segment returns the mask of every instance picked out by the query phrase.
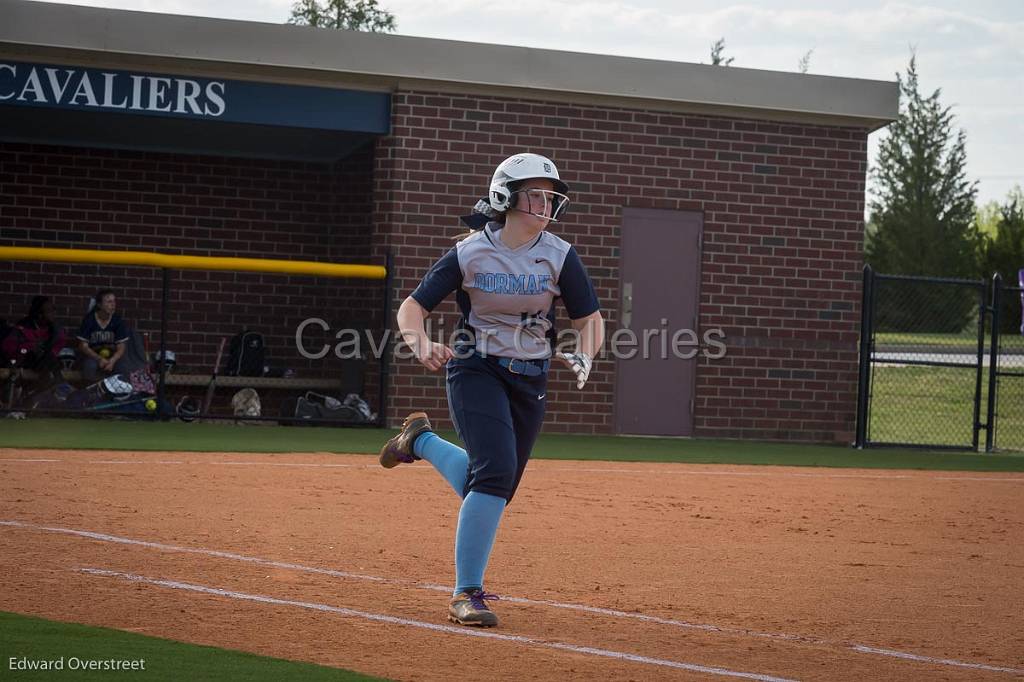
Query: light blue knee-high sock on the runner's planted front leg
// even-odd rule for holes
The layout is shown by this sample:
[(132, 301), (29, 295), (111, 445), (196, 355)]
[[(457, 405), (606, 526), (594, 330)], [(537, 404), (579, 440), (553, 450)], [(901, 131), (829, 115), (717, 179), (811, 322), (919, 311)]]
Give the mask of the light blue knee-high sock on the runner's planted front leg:
[(460, 592), (483, 589), (483, 571), (495, 546), (498, 524), (505, 511), (505, 498), (471, 492), (459, 511), (455, 532), (455, 585)]

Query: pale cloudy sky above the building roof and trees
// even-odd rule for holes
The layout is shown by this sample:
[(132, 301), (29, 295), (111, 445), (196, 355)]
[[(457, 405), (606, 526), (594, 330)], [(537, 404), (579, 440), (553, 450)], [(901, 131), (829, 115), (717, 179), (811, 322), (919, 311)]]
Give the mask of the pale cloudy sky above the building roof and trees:
[[(941, 88), (967, 133), (979, 203), (1024, 186), (1024, 2), (973, 0), (378, 0), (399, 35), (711, 61), (725, 38), (734, 67), (894, 81), (918, 55), (922, 90)], [(67, 4), (284, 23), (290, 0), (76, 0)], [(873, 165), (879, 131), (870, 137)]]

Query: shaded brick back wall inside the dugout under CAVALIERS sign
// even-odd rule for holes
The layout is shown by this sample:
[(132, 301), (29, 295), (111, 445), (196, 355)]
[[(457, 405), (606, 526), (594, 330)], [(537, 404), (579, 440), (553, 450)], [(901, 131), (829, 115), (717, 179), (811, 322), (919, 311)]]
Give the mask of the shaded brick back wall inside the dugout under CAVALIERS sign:
[[(330, 166), (0, 143), (0, 244), (372, 262), (373, 163), (372, 145)], [(0, 262), (0, 316), (19, 317), (44, 294), (77, 328), (100, 287), (156, 348), (161, 274), (151, 268)], [(271, 365), (328, 376), (339, 371), (333, 354), (312, 361), (296, 348), (302, 319), (331, 327), (310, 328), (310, 348), (343, 325), (380, 325), (377, 282), (180, 270), (171, 291), (168, 347), (201, 372), (221, 337), (251, 327)]]

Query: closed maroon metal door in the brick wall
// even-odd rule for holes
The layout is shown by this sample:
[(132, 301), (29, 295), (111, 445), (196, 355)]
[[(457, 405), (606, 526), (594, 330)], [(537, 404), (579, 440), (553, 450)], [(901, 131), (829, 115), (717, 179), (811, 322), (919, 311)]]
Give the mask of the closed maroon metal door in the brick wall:
[[(623, 209), (620, 321), (622, 328), (636, 335), (636, 354), (626, 358), (620, 352), (616, 359), (618, 433), (685, 436), (693, 432), (697, 349), (692, 342), (700, 334), (702, 228), (700, 213)], [(632, 340), (623, 332), (617, 334), (627, 343)], [(680, 354), (693, 352), (692, 359), (673, 352), (674, 336), (681, 342)]]

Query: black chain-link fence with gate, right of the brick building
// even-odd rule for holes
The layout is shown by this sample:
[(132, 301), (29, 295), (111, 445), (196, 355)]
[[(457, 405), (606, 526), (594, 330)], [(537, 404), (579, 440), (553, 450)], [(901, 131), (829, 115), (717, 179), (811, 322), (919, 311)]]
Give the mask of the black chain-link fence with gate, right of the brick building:
[(1020, 309), (1020, 288), (997, 275), (986, 283), (865, 266), (857, 446), (1024, 450)]

